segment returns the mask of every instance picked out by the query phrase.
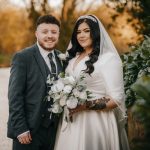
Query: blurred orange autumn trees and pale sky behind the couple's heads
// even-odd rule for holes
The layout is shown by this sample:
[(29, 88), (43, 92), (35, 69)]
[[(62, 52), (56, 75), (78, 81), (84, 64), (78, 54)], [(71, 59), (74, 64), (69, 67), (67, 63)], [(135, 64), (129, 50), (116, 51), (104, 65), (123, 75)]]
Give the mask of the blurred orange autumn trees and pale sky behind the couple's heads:
[[(14, 52), (35, 42), (35, 22), (40, 15), (53, 14), (61, 21), (58, 49), (65, 51), (76, 19), (83, 14), (95, 14), (101, 19), (120, 54), (130, 51), (129, 46), (143, 38), (143, 22), (134, 17), (128, 1), (109, 0), (61, 0), (54, 8), (54, 0), (20, 0), (23, 6), (12, 0), (0, 0), (0, 66), (9, 66)], [(58, 0), (56, 0), (58, 1)], [(118, 11), (122, 7), (122, 11)], [(135, 7), (133, 5), (133, 7)], [(121, 9), (121, 8), (120, 8)]]

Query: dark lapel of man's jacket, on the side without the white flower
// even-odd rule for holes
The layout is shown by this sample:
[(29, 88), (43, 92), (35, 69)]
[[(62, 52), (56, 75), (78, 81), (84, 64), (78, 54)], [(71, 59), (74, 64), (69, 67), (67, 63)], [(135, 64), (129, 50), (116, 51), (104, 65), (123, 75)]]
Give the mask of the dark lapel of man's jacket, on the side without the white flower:
[(34, 53), (35, 60), (36, 60), (38, 66), (40, 68), (40, 71), (41, 71), (41, 73), (43, 75), (44, 81), (46, 81), (47, 80), (47, 72), (46, 72), (46, 69), (45, 69), (44, 59), (43, 59), (43, 57), (40, 54), (38, 46), (35, 44), (34, 47), (35, 47), (35, 53)]

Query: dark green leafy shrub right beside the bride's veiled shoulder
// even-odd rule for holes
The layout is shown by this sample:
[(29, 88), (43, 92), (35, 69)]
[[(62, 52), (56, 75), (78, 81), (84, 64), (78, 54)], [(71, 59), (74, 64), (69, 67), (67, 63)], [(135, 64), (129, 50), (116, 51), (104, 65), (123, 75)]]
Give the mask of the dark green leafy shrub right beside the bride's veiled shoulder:
[(124, 84), (126, 105), (132, 106), (136, 100), (136, 93), (131, 86), (137, 79), (150, 74), (150, 37), (136, 47), (132, 52), (122, 55), (124, 64)]

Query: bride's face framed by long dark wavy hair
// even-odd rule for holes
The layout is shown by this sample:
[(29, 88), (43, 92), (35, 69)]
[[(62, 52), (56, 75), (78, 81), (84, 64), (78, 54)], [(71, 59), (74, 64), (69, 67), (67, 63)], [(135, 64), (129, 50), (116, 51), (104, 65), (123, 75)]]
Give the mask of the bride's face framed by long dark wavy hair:
[(77, 30), (77, 40), (81, 47), (86, 49), (92, 48), (92, 38), (90, 34), (90, 27), (87, 23), (83, 22), (79, 25)]

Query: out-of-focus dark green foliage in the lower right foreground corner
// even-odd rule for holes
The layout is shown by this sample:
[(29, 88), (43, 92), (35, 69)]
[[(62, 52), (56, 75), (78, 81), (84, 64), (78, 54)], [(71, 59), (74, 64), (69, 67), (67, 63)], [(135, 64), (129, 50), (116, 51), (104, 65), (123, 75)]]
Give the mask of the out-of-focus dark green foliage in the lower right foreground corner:
[(150, 75), (139, 78), (131, 88), (137, 94), (132, 111), (138, 120), (142, 120), (145, 130), (143, 138), (137, 138), (135, 141), (135, 148), (148, 150), (150, 149)]

